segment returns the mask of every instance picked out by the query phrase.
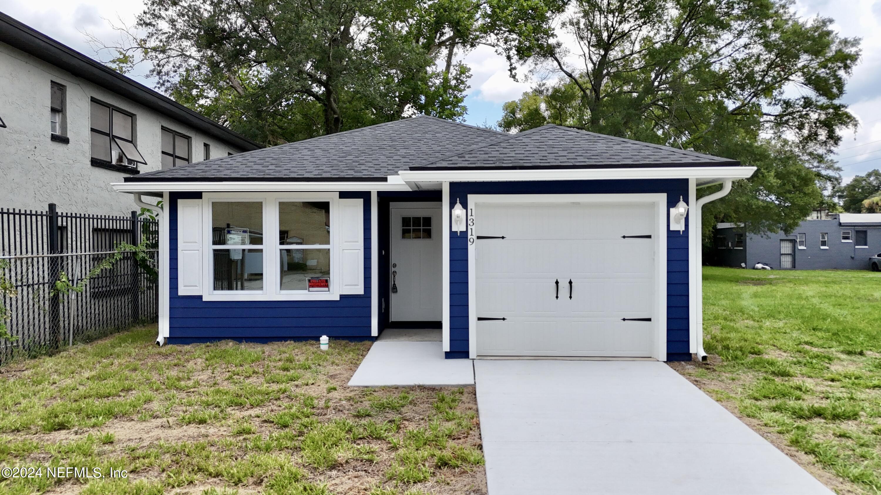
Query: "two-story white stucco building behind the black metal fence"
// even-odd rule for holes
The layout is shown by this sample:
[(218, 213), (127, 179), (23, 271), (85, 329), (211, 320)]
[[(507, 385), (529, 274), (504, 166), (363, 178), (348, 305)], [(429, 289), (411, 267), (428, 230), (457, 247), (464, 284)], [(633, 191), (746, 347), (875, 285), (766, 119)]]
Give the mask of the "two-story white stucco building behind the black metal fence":
[(0, 12), (0, 208), (126, 215), (125, 176), (261, 147)]

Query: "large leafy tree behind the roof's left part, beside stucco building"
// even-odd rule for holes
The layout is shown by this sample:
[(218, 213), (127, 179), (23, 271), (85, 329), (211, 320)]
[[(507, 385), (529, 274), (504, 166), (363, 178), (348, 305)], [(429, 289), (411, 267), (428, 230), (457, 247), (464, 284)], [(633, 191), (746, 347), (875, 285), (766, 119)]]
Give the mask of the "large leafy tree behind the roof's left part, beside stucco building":
[[(556, 6), (556, 7), (555, 7)], [(461, 118), (455, 51), (513, 47), (555, 0), (146, 0), (115, 54), (174, 100), (281, 144), (424, 113)]]

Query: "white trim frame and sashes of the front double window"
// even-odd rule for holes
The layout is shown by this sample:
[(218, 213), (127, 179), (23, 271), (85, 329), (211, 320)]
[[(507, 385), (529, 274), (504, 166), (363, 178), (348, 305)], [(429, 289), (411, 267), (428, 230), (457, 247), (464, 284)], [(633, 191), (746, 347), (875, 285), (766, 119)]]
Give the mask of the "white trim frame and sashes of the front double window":
[[(281, 292), (278, 287), (278, 274), (275, 267), (279, 263), (278, 247), (278, 202), (297, 200), (324, 200), (330, 203), (330, 244), (316, 246), (319, 249), (330, 249), (330, 292)], [(339, 249), (338, 239), (339, 208), (337, 202), (339, 194), (336, 192), (280, 192), (280, 193), (256, 193), (256, 192), (226, 192), (204, 193), (202, 195), (203, 214), (203, 277), (204, 292), (202, 300), (339, 300)], [(229, 249), (228, 246), (213, 246), (211, 244), (211, 203), (222, 201), (254, 201), (263, 203), (263, 290), (262, 291), (222, 291), (214, 292), (213, 284), (213, 252), (215, 248)], [(270, 207), (271, 205), (271, 207)], [(270, 270), (271, 267), (271, 270)], [(362, 285), (363, 286), (363, 285)]]

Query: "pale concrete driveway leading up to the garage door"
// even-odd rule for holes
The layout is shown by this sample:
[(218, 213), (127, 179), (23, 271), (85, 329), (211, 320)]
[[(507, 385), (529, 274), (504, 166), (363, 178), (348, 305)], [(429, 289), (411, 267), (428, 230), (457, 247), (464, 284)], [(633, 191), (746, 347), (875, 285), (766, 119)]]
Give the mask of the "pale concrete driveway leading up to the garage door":
[(476, 360), (489, 495), (829, 495), (663, 363)]

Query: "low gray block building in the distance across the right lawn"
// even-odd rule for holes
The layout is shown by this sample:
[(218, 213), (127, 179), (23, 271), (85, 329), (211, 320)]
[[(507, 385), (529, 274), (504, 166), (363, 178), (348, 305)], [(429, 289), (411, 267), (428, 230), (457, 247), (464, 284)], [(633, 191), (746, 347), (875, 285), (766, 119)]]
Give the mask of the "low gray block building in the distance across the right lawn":
[(712, 264), (774, 270), (872, 270), (871, 256), (881, 253), (881, 213), (816, 211), (796, 230), (747, 234), (739, 225), (716, 225)]

